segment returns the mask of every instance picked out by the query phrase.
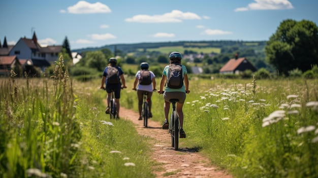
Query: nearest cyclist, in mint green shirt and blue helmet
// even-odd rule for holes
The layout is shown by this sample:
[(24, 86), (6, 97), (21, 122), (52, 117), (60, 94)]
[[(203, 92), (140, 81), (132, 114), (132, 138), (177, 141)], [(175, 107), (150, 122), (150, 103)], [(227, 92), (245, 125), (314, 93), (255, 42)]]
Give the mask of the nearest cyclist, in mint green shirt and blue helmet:
[[(170, 58), (170, 63), (175, 63), (175, 64), (179, 64), (181, 65), (181, 59), (182, 59), (182, 55), (179, 52), (172, 52), (169, 56)], [(164, 111), (165, 111), (165, 121), (163, 123), (163, 129), (168, 129), (169, 128), (169, 122), (168, 122), (168, 117), (169, 117), (169, 111), (170, 111), (170, 101), (169, 99), (179, 99), (179, 101), (177, 102), (176, 105), (176, 110), (179, 116), (179, 120), (180, 120), (180, 138), (185, 138), (185, 132), (183, 130), (183, 111), (182, 111), (182, 107), (183, 107), (183, 103), (185, 101), (185, 93), (189, 93), (189, 80), (187, 77), (187, 70), (186, 67), (184, 65), (181, 65), (182, 67), (182, 76), (183, 76), (183, 85), (181, 88), (178, 89), (173, 89), (173, 88), (169, 88), (166, 87), (165, 88), (165, 92), (164, 92), (164, 99), (165, 99), (165, 104), (164, 104)], [(157, 92), (159, 94), (162, 94), (164, 91), (164, 86), (166, 84), (167, 81), (167, 74), (169, 73), (169, 65), (167, 65), (163, 71), (163, 75), (162, 75), (162, 79), (160, 82), (160, 90), (158, 90)]]

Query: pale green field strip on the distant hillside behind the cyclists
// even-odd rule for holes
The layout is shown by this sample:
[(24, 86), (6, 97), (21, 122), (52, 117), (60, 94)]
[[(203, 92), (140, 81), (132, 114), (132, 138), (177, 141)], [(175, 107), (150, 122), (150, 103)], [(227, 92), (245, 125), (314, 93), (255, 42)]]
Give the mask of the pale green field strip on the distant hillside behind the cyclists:
[[(203, 44), (203, 46), (205, 46)], [(139, 49), (142, 50), (142, 49)], [(159, 51), (161, 53), (164, 54), (168, 54), (171, 53), (172, 51), (180, 51), (181, 53), (184, 52), (184, 50), (191, 50), (191, 51), (195, 51), (197, 53), (205, 53), (205, 54), (210, 54), (210, 53), (217, 53), (219, 54), (221, 52), (220, 48), (212, 48), (212, 47), (202, 47), (202, 48), (198, 48), (198, 47), (192, 47), (192, 48), (184, 48), (182, 46), (173, 46), (173, 47), (160, 47), (160, 48), (151, 48), (151, 49), (147, 49), (147, 51)]]

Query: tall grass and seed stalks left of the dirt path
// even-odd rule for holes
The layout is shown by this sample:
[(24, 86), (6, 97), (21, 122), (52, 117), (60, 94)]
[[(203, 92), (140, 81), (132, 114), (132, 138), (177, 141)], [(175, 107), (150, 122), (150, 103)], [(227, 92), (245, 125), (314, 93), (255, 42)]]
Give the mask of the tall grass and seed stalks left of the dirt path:
[(60, 57), (51, 77), (1, 79), (0, 177), (153, 177), (150, 138), (105, 118), (100, 83), (67, 71)]

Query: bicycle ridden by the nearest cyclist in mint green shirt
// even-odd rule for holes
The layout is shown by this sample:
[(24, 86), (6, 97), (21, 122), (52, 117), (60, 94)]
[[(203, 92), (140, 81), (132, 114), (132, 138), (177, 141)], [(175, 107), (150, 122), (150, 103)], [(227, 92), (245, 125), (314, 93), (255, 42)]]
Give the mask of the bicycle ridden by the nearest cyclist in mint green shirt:
[(170, 117), (169, 124), (169, 133), (171, 134), (171, 147), (174, 147), (174, 150), (178, 150), (179, 147), (179, 130), (180, 130), (180, 121), (179, 116), (176, 111), (176, 103), (179, 99), (170, 99), (172, 104), (172, 114)]

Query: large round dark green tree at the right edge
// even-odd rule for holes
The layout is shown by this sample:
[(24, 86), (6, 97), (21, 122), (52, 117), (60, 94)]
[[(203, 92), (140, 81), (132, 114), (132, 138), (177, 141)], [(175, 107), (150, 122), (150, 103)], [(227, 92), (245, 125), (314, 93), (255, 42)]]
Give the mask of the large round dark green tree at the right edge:
[(303, 72), (318, 64), (318, 27), (308, 20), (283, 20), (265, 46), (266, 60), (279, 73)]

